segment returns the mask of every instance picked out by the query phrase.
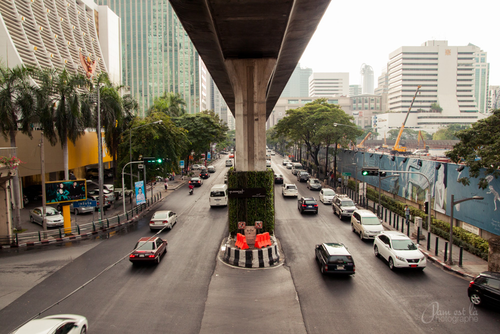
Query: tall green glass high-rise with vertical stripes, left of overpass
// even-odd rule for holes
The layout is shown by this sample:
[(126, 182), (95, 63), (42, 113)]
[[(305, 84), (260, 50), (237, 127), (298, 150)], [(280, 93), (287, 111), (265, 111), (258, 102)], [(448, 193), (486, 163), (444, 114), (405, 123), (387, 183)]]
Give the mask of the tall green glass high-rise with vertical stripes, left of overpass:
[(186, 112), (199, 112), (200, 58), (168, 0), (97, 1), (121, 18), (123, 84), (141, 115), (165, 91), (179, 93)]

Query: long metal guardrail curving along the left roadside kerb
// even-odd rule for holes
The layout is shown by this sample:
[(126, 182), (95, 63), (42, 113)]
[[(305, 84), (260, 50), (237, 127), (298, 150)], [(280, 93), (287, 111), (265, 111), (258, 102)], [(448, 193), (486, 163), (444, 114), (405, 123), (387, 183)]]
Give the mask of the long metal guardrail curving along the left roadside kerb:
[[(161, 195), (154, 196), (154, 202), (159, 200)], [(110, 218), (93, 221), (86, 224), (75, 224), (75, 226), (64, 228), (59, 227), (58, 229), (50, 229), (47, 231), (29, 232), (29, 233), (15, 233), (11, 235), (0, 236), (0, 244), (2, 245), (19, 245), (27, 242), (37, 242), (37, 241), (47, 241), (57, 238), (64, 238), (71, 235), (79, 235), (84, 233), (96, 232), (104, 228), (113, 227), (119, 225), (121, 222), (129, 220), (133, 217), (134, 213), (138, 214), (142, 212), (146, 207), (153, 203), (147, 200), (147, 203), (137, 205), (131, 210), (126, 211), (126, 213), (118, 214)]]

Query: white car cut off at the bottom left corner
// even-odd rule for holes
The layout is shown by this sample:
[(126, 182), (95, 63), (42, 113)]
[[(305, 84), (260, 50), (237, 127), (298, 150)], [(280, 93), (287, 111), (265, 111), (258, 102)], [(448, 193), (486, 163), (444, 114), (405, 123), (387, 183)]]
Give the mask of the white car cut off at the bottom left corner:
[(85, 334), (88, 321), (84, 316), (76, 314), (54, 314), (41, 319), (32, 319), (17, 328), (12, 334)]

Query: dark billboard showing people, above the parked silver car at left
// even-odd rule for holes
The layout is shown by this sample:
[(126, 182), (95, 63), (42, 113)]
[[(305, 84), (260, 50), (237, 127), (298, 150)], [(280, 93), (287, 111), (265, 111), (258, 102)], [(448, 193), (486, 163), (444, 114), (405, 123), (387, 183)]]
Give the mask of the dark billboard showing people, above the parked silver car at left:
[(45, 182), (46, 204), (74, 202), (86, 199), (86, 180)]

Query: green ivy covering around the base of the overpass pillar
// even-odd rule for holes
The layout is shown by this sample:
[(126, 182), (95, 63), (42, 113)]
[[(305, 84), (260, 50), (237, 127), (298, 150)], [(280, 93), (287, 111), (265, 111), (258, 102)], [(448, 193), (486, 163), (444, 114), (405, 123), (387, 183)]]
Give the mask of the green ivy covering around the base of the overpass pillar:
[(262, 229), (257, 230), (257, 233), (273, 233), (274, 174), (272, 170), (268, 169), (262, 172), (229, 171), (227, 184), (229, 189), (265, 189), (265, 197), (229, 197), (229, 233), (234, 235), (239, 232), (238, 221), (244, 221), (247, 226), (254, 226), (255, 221), (261, 221)]

